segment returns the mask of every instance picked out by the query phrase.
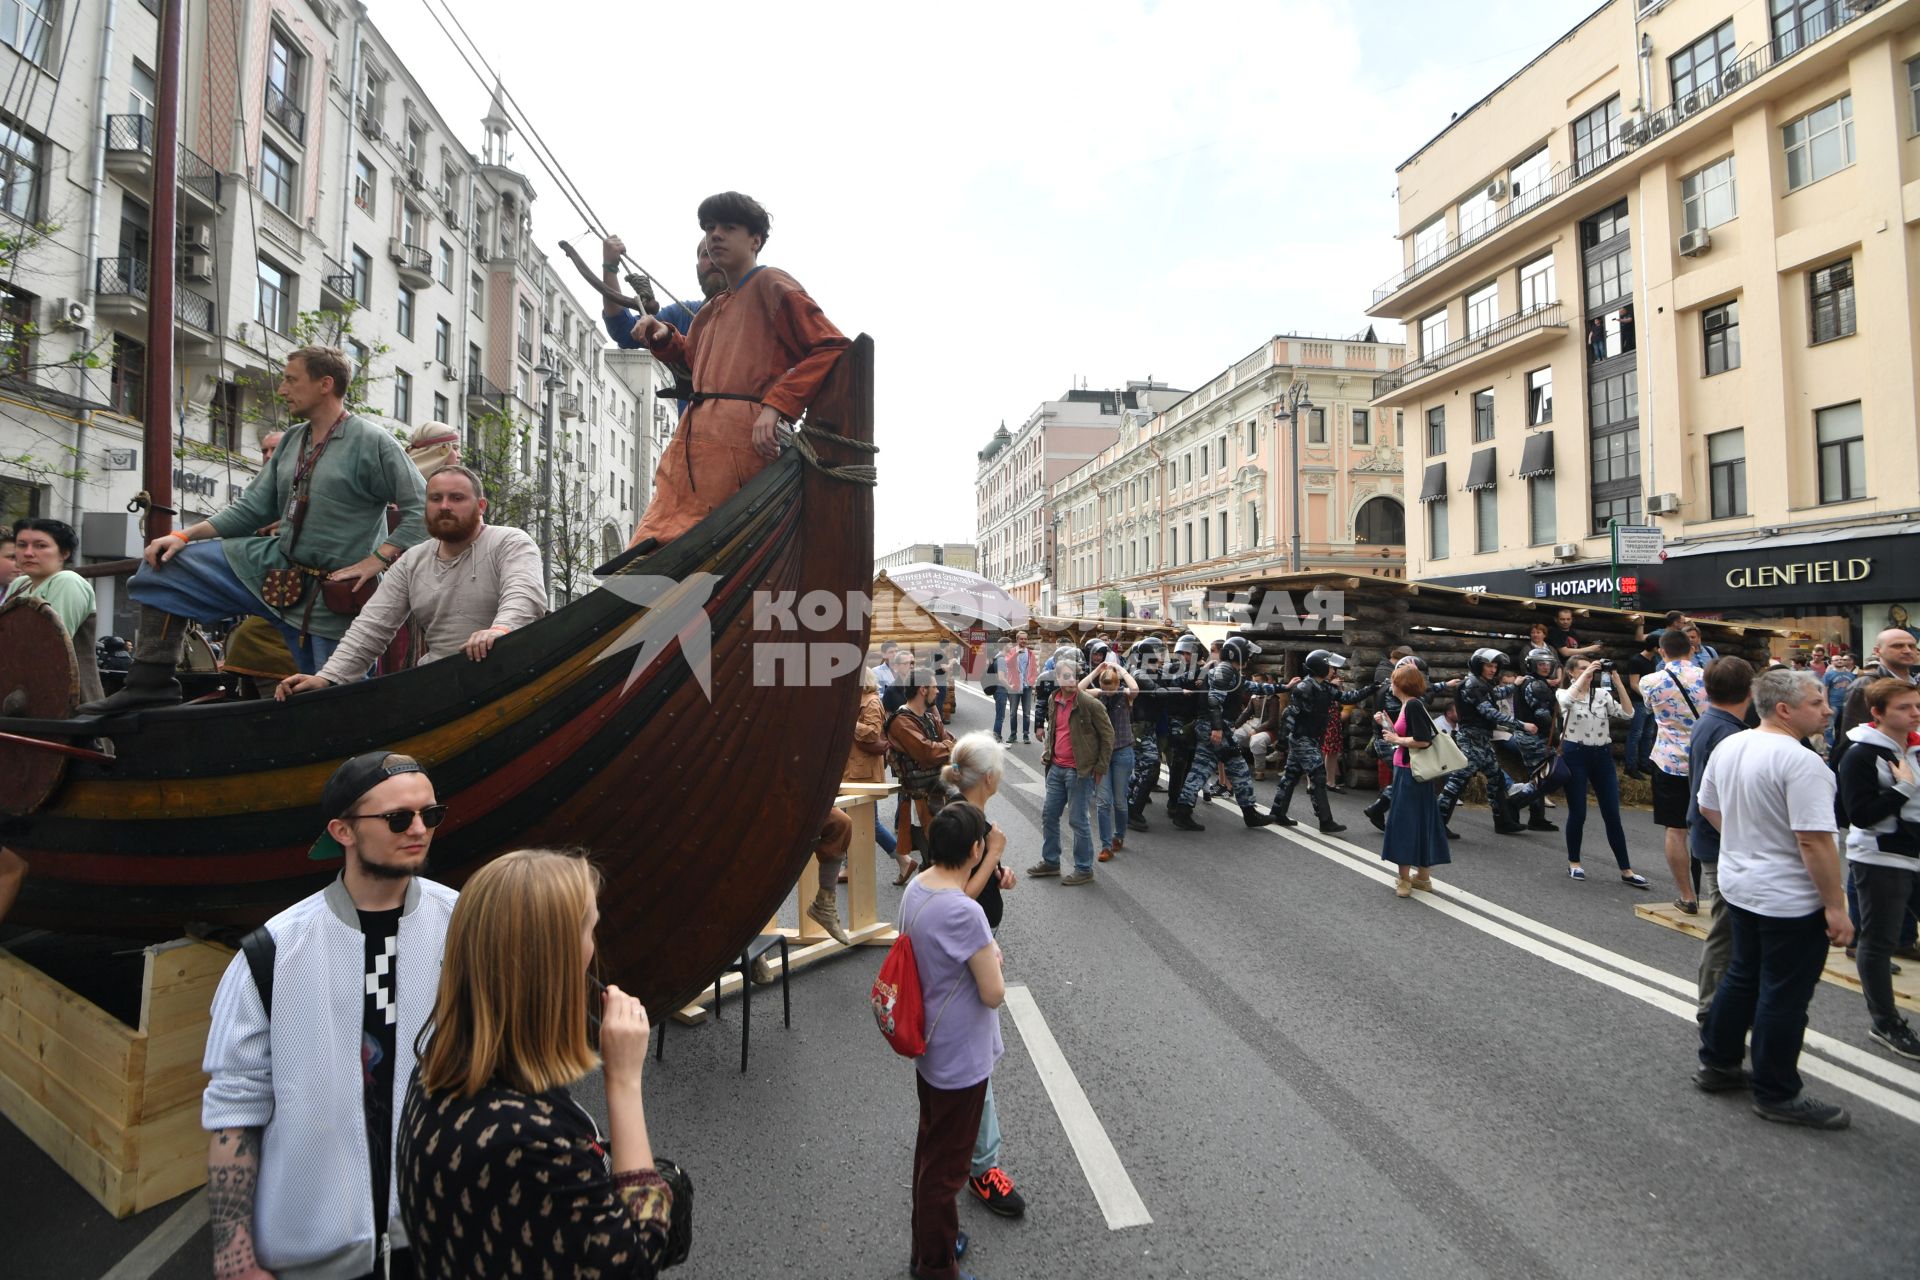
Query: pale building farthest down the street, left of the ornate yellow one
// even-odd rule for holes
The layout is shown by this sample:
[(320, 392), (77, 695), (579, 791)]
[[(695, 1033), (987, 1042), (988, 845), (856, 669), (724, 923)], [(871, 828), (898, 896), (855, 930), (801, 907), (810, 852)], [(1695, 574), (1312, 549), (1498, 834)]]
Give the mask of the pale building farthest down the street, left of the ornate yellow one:
[(1164, 382), (1102, 391), (1073, 388), (1043, 401), (1016, 432), (1000, 422), (973, 472), (977, 572), (1027, 612), (1052, 612), (1052, 484), (1112, 445), (1123, 413), (1152, 415), (1181, 395)]

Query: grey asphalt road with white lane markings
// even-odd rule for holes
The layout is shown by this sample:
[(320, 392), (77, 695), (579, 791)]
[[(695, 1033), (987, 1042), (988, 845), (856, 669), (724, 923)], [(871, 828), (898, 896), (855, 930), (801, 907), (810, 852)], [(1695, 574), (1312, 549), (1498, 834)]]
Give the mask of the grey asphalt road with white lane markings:
[[(989, 725), (991, 706), (962, 693), (956, 722)], [(991, 806), (1016, 867), (1039, 850), (1037, 752), (1012, 750)], [(1156, 802), (1154, 829), (1094, 885), (1023, 881), (1008, 896), (1008, 981), (1031, 994), (1152, 1222), (1108, 1226), (1002, 1015), (1002, 1159), (1029, 1213), (964, 1201), (972, 1270), (1920, 1272), (1920, 1071), (1870, 1046), (1857, 994), (1820, 986), (1803, 1059), (1811, 1092), (1847, 1103), (1853, 1128), (1766, 1125), (1743, 1098), (1690, 1086), (1699, 944), (1634, 917), (1647, 894), (1611, 875), (1597, 816), (1584, 885), (1567, 879), (1559, 835), (1500, 839), (1484, 810), (1463, 810), (1442, 892), (1400, 900), (1359, 818), (1367, 798), (1334, 796), (1352, 831), (1332, 841), (1248, 831), (1219, 806), (1206, 833), (1177, 833)], [(1651, 818), (1626, 827), (1653, 896), (1672, 896)], [(747, 1075), (732, 1002), (718, 1023), (676, 1027), (649, 1067), (655, 1150), (697, 1184), (687, 1280), (904, 1274), (914, 1086), (866, 1011), (877, 965), (862, 950), (795, 975), (791, 1031), (778, 990), (756, 1000)], [(593, 1084), (580, 1094), (597, 1105)], [(4, 1126), (0, 1169), (8, 1274), (106, 1274), (180, 1213), (111, 1222)], [(119, 1274), (207, 1270), (200, 1228), (157, 1270)]]

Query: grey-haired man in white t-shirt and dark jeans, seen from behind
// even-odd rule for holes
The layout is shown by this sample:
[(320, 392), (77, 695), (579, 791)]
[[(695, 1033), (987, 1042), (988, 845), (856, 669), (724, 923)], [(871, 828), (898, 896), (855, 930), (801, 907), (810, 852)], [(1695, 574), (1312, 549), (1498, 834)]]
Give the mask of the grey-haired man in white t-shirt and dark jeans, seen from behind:
[[(1809, 1128), (1845, 1128), (1847, 1109), (1801, 1092), (1807, 1006), (1828, 944), (1853, 940), (1839, 852), (1834, 773), (1803, 739), (1834, 710), (1812, 672), (1772, 668), (1753, 681), (1761, 727), (1715, 748), (1699, 814), (1720, 833), (1720, 898), (1734, 950), (1699, 1032), (1705, 1092), (1753, 1088), (1753, 1111)], [(1753, 1077), (1740, 1069), (1753, 1031)]]

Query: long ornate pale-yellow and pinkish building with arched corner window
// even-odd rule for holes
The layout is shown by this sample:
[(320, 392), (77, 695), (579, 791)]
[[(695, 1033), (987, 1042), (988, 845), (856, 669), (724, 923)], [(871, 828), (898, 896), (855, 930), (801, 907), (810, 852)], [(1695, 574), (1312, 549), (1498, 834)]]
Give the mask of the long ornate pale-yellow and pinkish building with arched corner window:
[[(1069, 616), (1227, 620), (1210, 591), (1338, 568), (1398, 578), (1405, 420), (1377, 411), (1400, 344), (1277, 336), (1054, 486), (1054, 599)], [(1298, 439), (1290, 390), (1300, 388)], [(1296, 518), (1298, 512), (1298, 518)]]

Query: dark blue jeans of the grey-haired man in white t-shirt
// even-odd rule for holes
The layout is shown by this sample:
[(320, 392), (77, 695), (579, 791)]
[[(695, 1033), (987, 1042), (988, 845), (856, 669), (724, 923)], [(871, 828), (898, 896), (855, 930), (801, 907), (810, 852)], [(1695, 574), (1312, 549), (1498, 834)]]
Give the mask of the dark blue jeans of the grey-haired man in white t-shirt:
[(1799, 1098), (1807, 1004), (1826, 967), (1826, 915), (1759, 915), (1732, 902), (1734, 952), (1699, 1029), (1703, 1067), (1736, 1071), (1753, 1029), (1753, 1102)]

